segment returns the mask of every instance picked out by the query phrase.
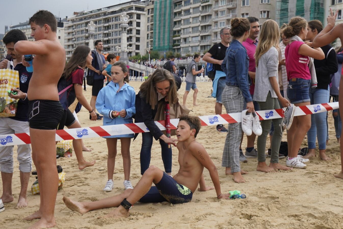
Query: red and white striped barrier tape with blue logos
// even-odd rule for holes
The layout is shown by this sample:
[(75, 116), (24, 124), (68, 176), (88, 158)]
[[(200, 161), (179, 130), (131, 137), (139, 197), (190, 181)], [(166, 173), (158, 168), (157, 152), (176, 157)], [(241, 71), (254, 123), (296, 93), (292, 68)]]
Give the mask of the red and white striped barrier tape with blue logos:
[[(296, 107), (294, 116), (310, 115), (333, 109), (338, 109), (338, 102), (301, 106)], [(258, 113), (260, 120), (278, 119), (283, 117), (283, 109), (262, 110), (256, 112)], [(241, 113), (199, 116), (199, 118), (201, 120), (202, 126), (236, 123), (241, 121)], [(176, 129), (178, 122), (178, 119), (170, 119), (170, 129)], [(158, 126), (160, 130), (166, 129), (164, 127), (164, 120), (155, 121), (155, 124)], [(80, 129), (57, 130), (56, 141), (80, 138), (105, 137), (111, 135), (133, 134), (142, 132), (149, 132), (149, 129), (147, 129), (143, 122), (119, 125), (93, 126), (84, 127)], [(31, 143), (29, 133), (0, 135), (1, 146), (23, 145), (29, 143)]]

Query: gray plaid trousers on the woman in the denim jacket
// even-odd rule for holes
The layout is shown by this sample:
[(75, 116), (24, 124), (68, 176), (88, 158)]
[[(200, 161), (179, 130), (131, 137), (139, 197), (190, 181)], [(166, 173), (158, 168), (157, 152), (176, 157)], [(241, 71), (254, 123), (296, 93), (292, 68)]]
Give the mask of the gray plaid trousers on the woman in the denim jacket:
[[(243, 110), (243, 95), (239, 87), (225, 86), (222, 94), (226, 113), (237, 113)], [(222, 167), (231, 167), (231, 172), (240, 172), (239, 143), (242, 137), (241, 123), (229, 123), (223, 150)]]

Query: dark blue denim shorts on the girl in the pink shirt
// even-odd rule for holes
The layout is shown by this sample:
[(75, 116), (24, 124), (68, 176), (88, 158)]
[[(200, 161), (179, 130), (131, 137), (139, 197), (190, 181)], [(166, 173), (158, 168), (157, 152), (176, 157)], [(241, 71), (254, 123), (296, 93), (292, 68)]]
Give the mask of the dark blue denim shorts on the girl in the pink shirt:
[(310, 101), (309, 91), (311, 80), (293, 78), (289, 80), (287, 96), (292, 104), (305, 103)]

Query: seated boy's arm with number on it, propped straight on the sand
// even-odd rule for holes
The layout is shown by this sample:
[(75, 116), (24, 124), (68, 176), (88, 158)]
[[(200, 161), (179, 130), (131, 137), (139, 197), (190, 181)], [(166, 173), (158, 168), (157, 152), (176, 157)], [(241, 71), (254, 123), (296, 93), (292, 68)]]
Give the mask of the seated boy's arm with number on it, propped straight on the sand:
[(210, 172), (210, 177), (212, 179), (215, 191), (217, 193), (217, 198), (229, 198), (229, 194), (222, 194), (220, 189), (220, 181), (218, 176), (217, 167), (213, 164), (209, 154), (206, 152), (205, 148), (200, 144), (191, 144), (189, 146), (191, 154)]

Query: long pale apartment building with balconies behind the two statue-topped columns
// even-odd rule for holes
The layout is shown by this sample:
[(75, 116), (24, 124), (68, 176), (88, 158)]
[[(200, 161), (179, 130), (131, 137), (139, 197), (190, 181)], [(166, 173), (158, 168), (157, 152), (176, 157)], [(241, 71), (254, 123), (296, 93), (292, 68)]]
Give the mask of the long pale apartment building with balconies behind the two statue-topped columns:
[(65, 30), (64, 48), (67, 59), (71, 57), (73, 50), (80, 45), (89, 44), (87, 25), (90, 21), (95, 24), (94, 41), (101, 39), (104, 44), (104, 53), (120, 52), (116, 49), (121, 46), (120, 14), (124, 11), (129, 16), (129, 27), (127, 29), (127, 43), (132, 47), (129, 56), (144, 55), (146, 48), (146, 2), (130, 1), (122, 4), (112, 5), (92, 11), (74, 12)]

